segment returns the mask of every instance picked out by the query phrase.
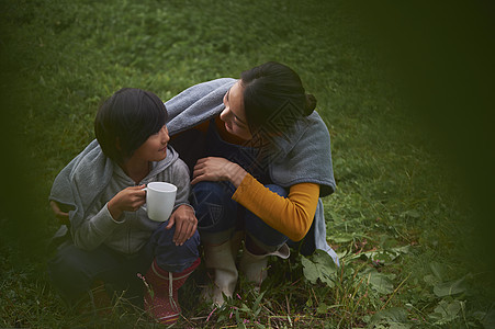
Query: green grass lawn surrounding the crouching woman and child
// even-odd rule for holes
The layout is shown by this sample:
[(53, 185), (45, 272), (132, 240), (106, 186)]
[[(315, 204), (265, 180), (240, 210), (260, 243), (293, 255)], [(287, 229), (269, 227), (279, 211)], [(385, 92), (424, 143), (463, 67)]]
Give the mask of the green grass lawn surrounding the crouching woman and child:
[[(477, 57), (475, 66), (461, 61), (468, 54), (461, 47), (441, 48), (451, 44), (436, 38), (442, 30), (435, 5), (418, 25), (439, 27), (426, 31), (430, 38), (424, 30), (386, 29), (391, 18), (406, 25), (425, 12), (381, 9), (345, 1), (3, 1), (1, 139), (9, 192), (2, 192), (0, 213), (0, 327), (155, 327), (122, 298), (100, 317), (71, 313), (59, 299), (45, 270), (57, 228), (46, 204), (50, 184), (93, 138), (98, 104), (119, 88), (149, 89), (167, 100), (200, 81), (279, 60), (300, 72), (330, 131), (338, 190), (324, 203), (328, 241), (342, 265), (295, 253), (272, 263), (261, 295), (241, 280), (238, 296), (213, 313), (198, 303), (198, 271), (182, 290), (179, 326), (490, 328), (490, 193), (466, 182), (493, 185), (492, 175), (480, 179), (493, 162), (470, 144), (487, 143), (481, 147), (486, 152), (491, 140), (452, 134), (458, 127), (473, 136), (485, 132), (483, 103), (470, 104), (475, 126), (459, 124), (457, 111), (465, 104), (455, 104), (458, 94), (484, 95), (484, 89), (470, 80), (471, 88), (460, 90), (455, 77), (446, 77), (446, 67), (455, 64), (450, 69), (468, 79), (465, 72), (490, 56)], [(451, 4), (449, 13), (458, 11)], [(470, 30), (460, 29), (455, 39), (468, 39)], [(408, 37), (397, 38), (398, 31)], [(389, 48), (390, 39), (398, 46)], [(401, 60), (407, 69), (394, 70)], [(431, 79), (417, 83), (420, 77)], [(431, 90), (438, 99), (425, 93)], [(447, 125), (443, 106), (452, 111)], [(483, 166), (466, 167), (446, 141)]]

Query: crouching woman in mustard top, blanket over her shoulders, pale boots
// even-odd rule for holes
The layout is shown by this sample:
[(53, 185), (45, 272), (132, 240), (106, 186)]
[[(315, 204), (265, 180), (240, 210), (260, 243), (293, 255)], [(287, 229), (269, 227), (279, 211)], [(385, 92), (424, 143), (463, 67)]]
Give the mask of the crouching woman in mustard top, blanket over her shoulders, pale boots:
[[(192, 201), (214, 285), (203, 296), (222, 305), (234, 293), (235, 259), (261, 284), (269, 256), (327, 251), (319, 197), (334, 192), (330, 139), (291, 68), (266, 63), (239, 80), (200, 83), (166, 103), (171, 144), (192, 171)], [(308, 234), (311, 232), (311, 234)], [(305, 238), (307, 236), (307, 238)]]

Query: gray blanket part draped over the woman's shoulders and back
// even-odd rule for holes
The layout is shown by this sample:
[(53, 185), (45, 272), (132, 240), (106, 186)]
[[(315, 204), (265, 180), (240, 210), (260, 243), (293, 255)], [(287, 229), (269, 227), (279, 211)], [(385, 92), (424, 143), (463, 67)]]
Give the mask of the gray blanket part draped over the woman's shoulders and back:
[[(225, 93), (236, 81), (222, 78), (199, 83), (167, 101), (170, 135), (217, 115), (224, 109)], [(316, 111), (296, 122), (286, 134), (273, 139), (269, 163), (271, 179), (278, 185), (289, 188), (303, 182), (317, 183), (322, 186), (320, 196), (335, 191), (330, 135)], [(316, 208), (313, 238), (316, 249), (325, 250), (338, 264), (337, 254), (326, 241), (322, 200)]]

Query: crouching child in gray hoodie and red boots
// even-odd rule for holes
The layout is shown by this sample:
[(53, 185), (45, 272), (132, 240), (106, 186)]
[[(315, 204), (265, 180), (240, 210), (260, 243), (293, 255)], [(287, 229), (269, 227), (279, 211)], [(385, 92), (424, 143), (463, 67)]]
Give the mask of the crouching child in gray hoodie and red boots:
[[(162, 324), (179, 318), (177, 291), (200, 263), (200, 240), (188, 202), (189, 169), (168, 146), (167, 118), (164, 102), (151, 92), (115, 92), (97, 114), (97, 140), (55, 179), (50, 204), (57, 217), (69, 217), (71, 240), (58, 248), (48, 268), (69, 303), (103, 281), (140, 304), (138, 273), (147, 271), (153, 293), (145, 290), (145, 308)], [(150, 220), (142, 207), (144, 188), (153, 181), (178, 188), (165, 223)], [(60, 211), (67, 206), (68, 214)]]

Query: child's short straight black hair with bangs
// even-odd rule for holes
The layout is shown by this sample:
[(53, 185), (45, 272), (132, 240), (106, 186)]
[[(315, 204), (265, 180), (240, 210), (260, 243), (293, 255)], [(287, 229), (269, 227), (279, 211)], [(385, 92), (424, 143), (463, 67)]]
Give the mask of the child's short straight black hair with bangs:
[(153, 92), (123, 88), (98, 111), (94, 134), (103, 154), (123, 163), (168, 120), (164, 102)]

